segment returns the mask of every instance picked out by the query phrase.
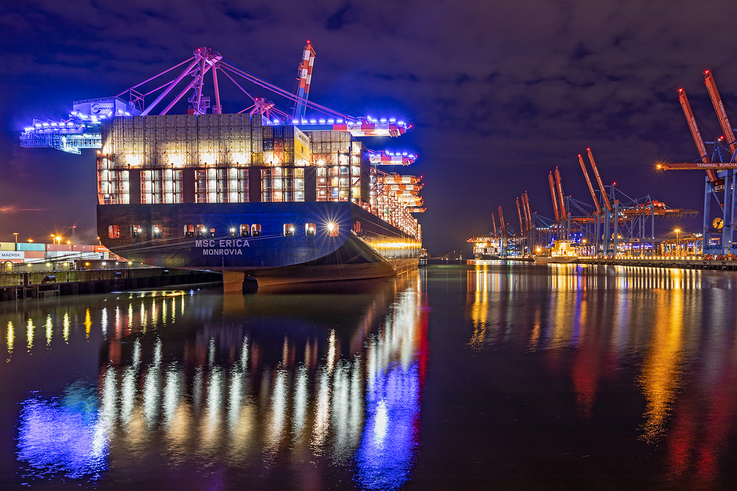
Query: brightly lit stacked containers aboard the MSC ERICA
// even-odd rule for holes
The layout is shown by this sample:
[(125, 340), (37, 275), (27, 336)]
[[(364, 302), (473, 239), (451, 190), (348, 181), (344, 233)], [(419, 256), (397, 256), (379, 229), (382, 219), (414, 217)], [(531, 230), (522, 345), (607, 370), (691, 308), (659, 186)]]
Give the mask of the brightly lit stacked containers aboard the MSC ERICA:
[(263, 126), (248, 114), (117, 117), (102, 123), (97, 166), (101, 205), (352, 201), (419, 234), (407, 207), (421, 199), (385, 186), (346, 131)]

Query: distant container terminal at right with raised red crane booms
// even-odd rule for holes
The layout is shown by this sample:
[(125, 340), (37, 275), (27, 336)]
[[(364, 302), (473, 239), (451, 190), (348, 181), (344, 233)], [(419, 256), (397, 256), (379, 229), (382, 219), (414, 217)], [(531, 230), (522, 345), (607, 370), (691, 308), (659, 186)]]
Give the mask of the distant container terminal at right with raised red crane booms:
[[(699, 157), (687, 163), (654, 163), (657, 171), (705, 171), (703, 188), (699, 184), (704, 192), (702, 212), (671, 208), (650, 194), (632, 198), (616, 183), (604, 185), (591, 149), (587, 149), (587, 162), (584, 155), (578, 155), (578, 160), (590, 197), (579, 200), (566, 194), (561, 171), (554, 169), (548, 173), (553, 217), (532, 211), (527, 191), (523, 192), (516, 199), (517, 220), (505, 222), (500, 206), (497, 208), (499, 227), (497, 215), (492, 213), (493, 230), (468, 239), (473, 244), (475, 258), (737, 269), (733, 267), (737, 261), (730, 262), (737, 259), (734, 240), (737, 140), (728, 115), (737, 113), (722, 100), (711, 71), (704, 72), (704, 82), (722, 136), (716, 141), (703, 140), (697, 124), (701, 120), (691, 110), (685, 90), (680, 88), (678, 99)], [(588, 169), (593, 172), (593, 178)], [(656, 238), (656, 221), (677, 221), (699, 213), (703, 218), (701, 230), (674, 227), (668, 239)]]

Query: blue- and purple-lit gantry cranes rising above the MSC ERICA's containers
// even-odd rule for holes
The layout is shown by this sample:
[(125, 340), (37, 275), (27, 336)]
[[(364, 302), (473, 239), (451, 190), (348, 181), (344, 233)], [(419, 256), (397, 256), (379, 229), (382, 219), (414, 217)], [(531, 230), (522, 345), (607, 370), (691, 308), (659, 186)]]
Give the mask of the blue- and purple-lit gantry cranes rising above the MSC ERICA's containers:
[[(304, 53), (309, 54), (306, 63)], [(306, 78), (300, 80), (297, 93), (290, 93), (226, 60), (220, 53), (200, 47), (192, 52), (192, 57), (115, 96), (74, 102), (71, 113), (66, 119), (60, 121), (33, 120), (32, 126), (27, 127), (21, 134), (21, 146), (52, 147), (75, 154), (79, 154), (80, 149), (83, 148), (100, 148), (102, 146), (100, 128), (102, 120), (116, 116), (166, 115), (187, 93), (190, 93), (186, 99), (189, 102), (188, 112), (190, 114), (206, 114), (208, 110), (221, 114), (223, 107), (220, 102), (219, 82), (222, 82), (223, 76), (233, 82), (250, 99), (248, 107), (237, 112), (261, 114), (268, 119), (269, 124), (290, 123), (304, 130), (332, 130), (344, 131), (354, 136), (392, 137), (402, 135), (411, 127), (405, 121), (397, 121), (394, 118), (354, 117), (308, 101), (314, 53), (312, 44), (308, 41), (299, 72), (301, 77), (302, 70), (306, 69)], [(302, 68), (305, 65), (307, 68)], [(212, 92), (215, 98), (212, 107), (209, 96), (205, 95), (210, 71), (212, 71)], [(264, 97), (254, 96), (242, 85), (243, 80), (281, 96), (287, 99), (287, 102), (294, 103), (296, 110), (300, 111), (299, 116), (297, 117), (296, 113), (294, 115), (287, 113)], [(207, 88), (209, 91), (210, 88)], [(151, 98), (153, 101), (150, 100)], [(304, 117), (307, 108), (320, 114), (321, 117), (307, 119)], [(406, 159), (400, 158), (399, 160), (407, 163)]]

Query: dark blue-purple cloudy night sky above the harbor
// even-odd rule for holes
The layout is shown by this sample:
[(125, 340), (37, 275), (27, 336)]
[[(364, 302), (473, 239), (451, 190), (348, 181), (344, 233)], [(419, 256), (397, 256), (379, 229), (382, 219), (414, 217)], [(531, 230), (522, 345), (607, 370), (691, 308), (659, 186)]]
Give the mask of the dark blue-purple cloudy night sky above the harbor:
[[(656, 173), (653, 162), (698, 157), (680, 87), (705, 139), (721, 134), (705, 69), (737, 107), (735, 18), (729, 1), (4, 1), (0, 241), (77, 225), (78, 242), (96, 242), (94, 150), (21, 148), (33, 118), (63, 118), (72, 101), (113, 96), (198, 46), (292, 90), (307, 39), (311, 100), (413, 124), (367, 145), (419, 154), (385, 170), (425, 177), (419, 220), (433, 255), (491, 230), (498, 205), (516, 224), (525, 190), (532, 211), (553, 216), (556, 166), (565, 193), (590, 202), (577, 158), (589, 146), (605, 183), (700, 211), (704, 172)], [(223, 112), (246, 106), (237, 90), (223, 96)], [(660, 222), (659, 233), (700, 223)]]

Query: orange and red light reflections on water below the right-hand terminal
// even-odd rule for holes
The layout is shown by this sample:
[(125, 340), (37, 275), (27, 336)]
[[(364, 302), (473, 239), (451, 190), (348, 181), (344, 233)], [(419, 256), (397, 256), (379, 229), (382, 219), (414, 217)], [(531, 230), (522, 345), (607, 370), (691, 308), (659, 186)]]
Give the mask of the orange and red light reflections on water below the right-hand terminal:
[(635, 361), (645, 401), (640, 438), (666, 441), (673, 478), (694, 475), (708, 487), (725, 435), (736, 427), (736, 275), (503, 264), (475, 264), (466, 274), (472, 350), (517, 347), (570, 359), (576, 404), (587, 419), (603, 379)]

